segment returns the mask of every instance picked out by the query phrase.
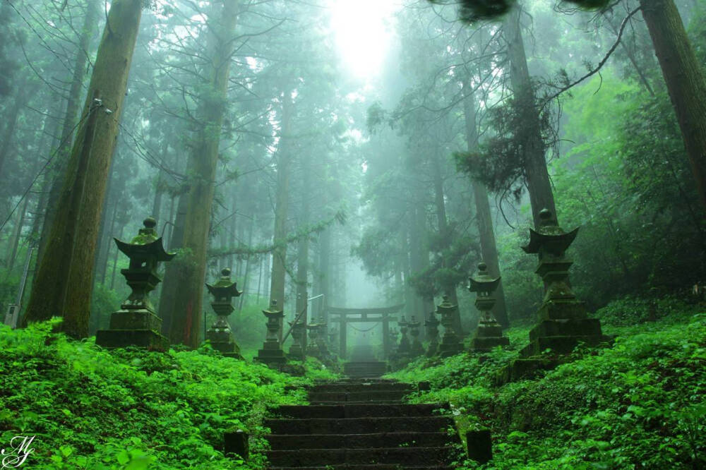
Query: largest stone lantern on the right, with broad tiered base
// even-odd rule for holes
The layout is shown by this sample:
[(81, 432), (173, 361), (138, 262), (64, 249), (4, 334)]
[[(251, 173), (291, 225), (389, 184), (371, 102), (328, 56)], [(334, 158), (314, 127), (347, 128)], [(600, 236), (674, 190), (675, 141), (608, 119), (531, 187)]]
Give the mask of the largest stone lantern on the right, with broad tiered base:
[(609, 342), (602, 334), (597, 318), (588, 318), (585, 303), (576, 299), (569, 284), (567, 248), (578, 234), (578, 228), (566, 232), (558, 226), (549, 210), (539, 212), (537, 231), (530, 229), (530, 243), (525, 253), (539, 255), (538, 275), (544, 281), (544, 299), (539, 308), (539, 325), (530, 330), (530, 344), (520, 351), (523, 357), (535, 356), (545, 349), (558, 353), (573, 351), (578, 342), (592, 346)]

